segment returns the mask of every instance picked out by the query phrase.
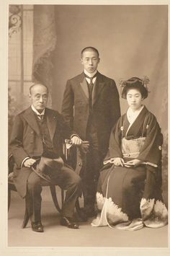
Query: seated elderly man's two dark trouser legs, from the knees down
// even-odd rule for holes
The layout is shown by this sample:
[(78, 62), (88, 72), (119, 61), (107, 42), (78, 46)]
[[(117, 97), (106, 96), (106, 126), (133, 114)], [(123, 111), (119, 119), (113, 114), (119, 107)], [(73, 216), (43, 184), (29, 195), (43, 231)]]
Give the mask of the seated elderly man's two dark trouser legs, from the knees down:
[[(73, 216), (76, 199), (81, 195), (81, 178), (69, 167), (64, 166), (56, 172), (55, 184), (66, 190), (66, 198), (63, 203), (62, 215)], [(27, 180), (27, 194), (25, 197), (27, 211), (31, 221), (41, 221), (41, 192), (43, 180), (35, 172), (31, 172)]]

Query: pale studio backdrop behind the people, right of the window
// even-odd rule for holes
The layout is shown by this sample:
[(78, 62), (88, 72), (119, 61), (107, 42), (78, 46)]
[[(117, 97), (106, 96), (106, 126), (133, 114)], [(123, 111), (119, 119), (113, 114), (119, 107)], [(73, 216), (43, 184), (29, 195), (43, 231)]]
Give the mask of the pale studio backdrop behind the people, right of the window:
[[(30, 22), (32, 79), (49, 87), (49, 105), (59, 112), (67, 79), (82, 72), (80, 53), (86, 46), (99, 50), (98, 70), (115, 79), (119, 92), (120, 79), (148, 76), (150, 93), (145, 104), (164, 134), (163, 187), (167, 197), (168, 6), (35, 5)], [(22, 89), (25, 97), (29, 86)], [(120, 99), (120, 104), (124, 113), (126, 100)]]

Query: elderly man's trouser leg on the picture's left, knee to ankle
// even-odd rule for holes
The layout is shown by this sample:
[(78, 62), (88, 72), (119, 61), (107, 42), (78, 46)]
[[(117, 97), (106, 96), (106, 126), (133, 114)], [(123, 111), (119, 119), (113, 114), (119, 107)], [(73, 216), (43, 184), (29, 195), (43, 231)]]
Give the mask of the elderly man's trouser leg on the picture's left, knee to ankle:
[(40, 185), (41, 178), (32, 172), (27, 180), (27, 194), (25, 197), (27, 212), (30, 215), (32, 222), (41, 221), (41, 192), (42, 186)]

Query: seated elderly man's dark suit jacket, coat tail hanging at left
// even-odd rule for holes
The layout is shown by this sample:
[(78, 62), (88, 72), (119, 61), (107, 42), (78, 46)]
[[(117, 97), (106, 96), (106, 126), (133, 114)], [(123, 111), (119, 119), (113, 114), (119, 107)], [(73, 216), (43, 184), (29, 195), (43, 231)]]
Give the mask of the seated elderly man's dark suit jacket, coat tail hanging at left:
[[(62, 156), (62, 142), (65, 138), (70, 138), (71, 131), (64, 123), (62, 116), (55, 110), (45, 108), (45, 115), (48, 123), (50, 138), (53, 147)], [(12, 128), (9, 151), (14, 156), (14, 183), (22, 197), (26, 194), (27, 178), (32, 170), (30, 168), (21, 168), (24, 158), (29, 156), (35, 158), (41, 156), (43, 152), (42, 137), (40, 128), (32, 108), (17, 115)]]

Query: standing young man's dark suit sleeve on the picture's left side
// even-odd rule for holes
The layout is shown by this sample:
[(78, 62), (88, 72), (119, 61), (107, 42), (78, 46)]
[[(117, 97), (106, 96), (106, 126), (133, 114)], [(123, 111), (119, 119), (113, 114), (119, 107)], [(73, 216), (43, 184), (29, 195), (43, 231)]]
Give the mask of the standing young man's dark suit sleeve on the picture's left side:
[(71, 88), (70, 80), (66, 83), (66, 89), (63, 94), (63, 103), (61, 107), (61, 115), (63, 119), (70, 128), (73, 128), (73, 105), (74, 105), (74, 96), (73, 90)]

